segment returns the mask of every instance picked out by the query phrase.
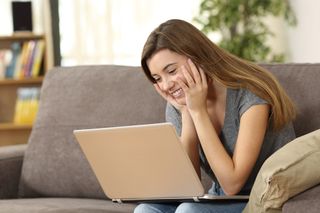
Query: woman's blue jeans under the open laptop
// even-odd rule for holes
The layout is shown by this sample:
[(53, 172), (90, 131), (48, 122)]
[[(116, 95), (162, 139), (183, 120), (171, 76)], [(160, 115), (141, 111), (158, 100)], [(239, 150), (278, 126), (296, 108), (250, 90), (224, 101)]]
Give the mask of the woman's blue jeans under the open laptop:
[[(224, 195), (221, 188), (213, 184), (210, 194)], [(142, 203), (134, 213), (240, 213), (246, 202), (211, 202), (211, 203)]]

